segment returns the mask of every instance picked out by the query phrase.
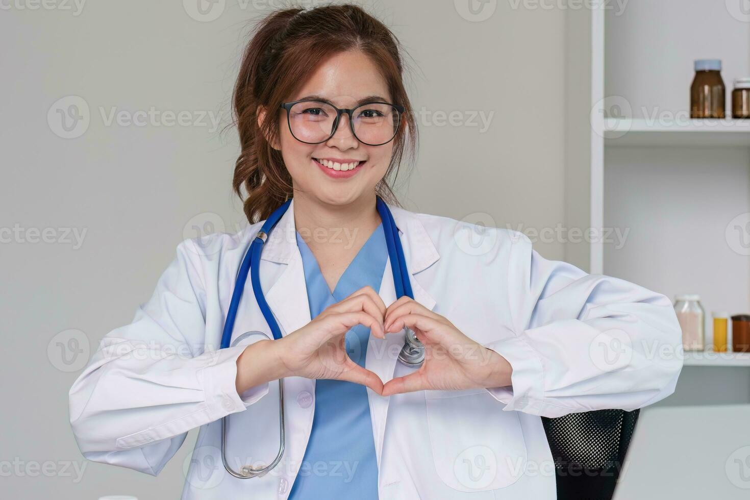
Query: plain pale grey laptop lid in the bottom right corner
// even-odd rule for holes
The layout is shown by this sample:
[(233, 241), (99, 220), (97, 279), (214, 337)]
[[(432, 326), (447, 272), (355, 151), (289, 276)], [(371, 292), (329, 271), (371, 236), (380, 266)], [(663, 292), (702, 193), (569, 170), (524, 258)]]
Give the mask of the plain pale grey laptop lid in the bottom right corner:
[(640, 411), (614, 500), (750, 499), (750, 405)]

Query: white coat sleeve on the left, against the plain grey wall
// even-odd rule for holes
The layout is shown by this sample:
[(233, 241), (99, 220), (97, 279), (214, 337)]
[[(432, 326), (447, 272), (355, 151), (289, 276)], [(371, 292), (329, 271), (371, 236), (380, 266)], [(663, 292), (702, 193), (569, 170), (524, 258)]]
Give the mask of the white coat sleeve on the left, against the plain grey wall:
[(84, 457), (157, 475), (187, 431), (245, 410), (268, 385), (237, 394), (236, 360), (260, 336), (206, 349), (199, 251), (183, 241), (133, 322), (101, 341), (71, 387), (70, 418)]

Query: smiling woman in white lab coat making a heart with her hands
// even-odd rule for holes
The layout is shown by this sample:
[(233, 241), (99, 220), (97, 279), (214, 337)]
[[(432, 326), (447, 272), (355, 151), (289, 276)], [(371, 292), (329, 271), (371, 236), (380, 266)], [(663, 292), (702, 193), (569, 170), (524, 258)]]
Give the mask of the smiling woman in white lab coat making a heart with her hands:
[[(681, 342), (664, 295), (544, 259), (519, 232), (487, 229), (478, 249), (476, 226), (398, 208), (388, 181), (416, 144), (402, 71), (393, 34), (359, 7), (260, 23), (233, 100), (251, 225), (180, 244), (134, 321), (104, 337), (70, 394), (87, 458), (157, 475), (199, 427), (184, 499), (553, 499), (540, 416), (673, 392), (681, 361), (654, 355)], [(413, 298), (397, 296), (389, 217)], [(261, 290), (240, 282), (230, 314), (257, 236)], [(407, 328), (419, 367), (398, 361)], [(279, 379), (281, 462), (236, 478), (222, 418), (228, 469), (268, 466)]]

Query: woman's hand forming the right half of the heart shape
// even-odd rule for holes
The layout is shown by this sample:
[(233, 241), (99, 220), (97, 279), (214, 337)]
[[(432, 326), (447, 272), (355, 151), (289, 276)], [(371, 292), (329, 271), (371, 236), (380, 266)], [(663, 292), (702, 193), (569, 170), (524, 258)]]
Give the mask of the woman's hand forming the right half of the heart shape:
[(414, 373), (395, 377), (383, 386), (383, 396), (403, 392), (460, 391), (511, 385), (510, 363), (491, 349), (469, 339), (448, 319), (408, 296), (386, 309), (386, 335), (411, 328), (425, 346), (425, 361)]

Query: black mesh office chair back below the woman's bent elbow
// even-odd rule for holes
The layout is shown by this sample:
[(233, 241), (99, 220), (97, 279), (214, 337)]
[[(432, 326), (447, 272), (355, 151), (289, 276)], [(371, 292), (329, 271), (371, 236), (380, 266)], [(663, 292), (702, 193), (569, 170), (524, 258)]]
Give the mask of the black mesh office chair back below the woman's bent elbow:
[(638, 412), (606, 409), (542, 417), (555, 463), (557, 500), (610, 500)]

